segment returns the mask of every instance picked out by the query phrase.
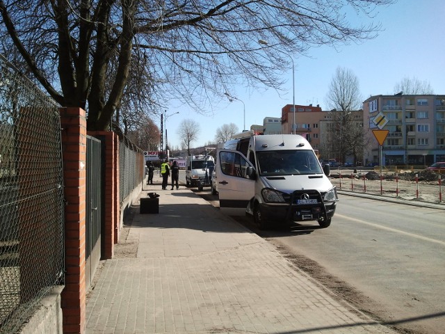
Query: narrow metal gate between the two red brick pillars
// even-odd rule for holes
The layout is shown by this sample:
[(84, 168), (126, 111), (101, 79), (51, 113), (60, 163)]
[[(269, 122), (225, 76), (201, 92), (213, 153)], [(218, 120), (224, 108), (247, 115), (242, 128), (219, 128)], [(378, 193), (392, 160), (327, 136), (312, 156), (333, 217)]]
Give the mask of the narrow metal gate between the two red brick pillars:
[(102, 174), (102, 143), (87, 136), (85, 279), (90, 285), (101, 257)]

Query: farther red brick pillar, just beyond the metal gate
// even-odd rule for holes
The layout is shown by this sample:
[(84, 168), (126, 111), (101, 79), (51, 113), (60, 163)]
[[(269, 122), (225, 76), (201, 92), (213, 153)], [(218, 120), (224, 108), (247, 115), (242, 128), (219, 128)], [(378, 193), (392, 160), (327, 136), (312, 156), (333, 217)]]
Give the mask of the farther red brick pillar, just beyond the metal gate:
[[(114, 244), (115, 239), (115, 226), (116, 226), (116, 212), (119, 212), (119, 207), (116, 205), (115, 198), (115, 183), (116, 175), (118, 175), (118, 168), (115, 166), (115, 157), (118, 155), (116, 152), (116, 141), (115, 138), (118, 136), (114, 132), (108, 131), (95, 131), (88, 132), (88, 135), (98, 138), (104, 145), (102, 145), (102, 150), (105, 150), (104, 161), (104, 205), (102, 209), (104, 210), (104, 221), (102, 222), (103, 230), (101, 230), (102, 235), (102, 254), (101, 259), (111, 259), (114, 255)], [(119, 198), (118, 198), (119, 200)]]

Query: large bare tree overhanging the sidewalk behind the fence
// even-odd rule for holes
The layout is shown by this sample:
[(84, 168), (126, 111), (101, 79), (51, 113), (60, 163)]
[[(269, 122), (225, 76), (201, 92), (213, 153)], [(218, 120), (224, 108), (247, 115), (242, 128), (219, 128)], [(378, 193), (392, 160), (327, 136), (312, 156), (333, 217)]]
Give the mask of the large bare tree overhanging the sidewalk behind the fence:
[(0, 52), (19, 54), (51, 97), (103, 130), (124, 95), (154, 110), (179, 98), (204, 113), (236, 83), (277, 88), (290, 62), (277, 46), (297, 56), (374, 38), (378, 24), (351, 26), (343, 13), (371, 16), (394, 1), (0, 0)]

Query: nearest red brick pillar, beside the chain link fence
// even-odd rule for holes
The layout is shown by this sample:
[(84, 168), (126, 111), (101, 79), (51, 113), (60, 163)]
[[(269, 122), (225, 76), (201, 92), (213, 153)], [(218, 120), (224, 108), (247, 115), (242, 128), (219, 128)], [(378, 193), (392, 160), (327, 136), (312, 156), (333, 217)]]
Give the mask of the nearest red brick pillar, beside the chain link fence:
[(60, 109), (65, 179), (65, 288), (63, 333), (86, 332), (86, 117), (79, 108)]

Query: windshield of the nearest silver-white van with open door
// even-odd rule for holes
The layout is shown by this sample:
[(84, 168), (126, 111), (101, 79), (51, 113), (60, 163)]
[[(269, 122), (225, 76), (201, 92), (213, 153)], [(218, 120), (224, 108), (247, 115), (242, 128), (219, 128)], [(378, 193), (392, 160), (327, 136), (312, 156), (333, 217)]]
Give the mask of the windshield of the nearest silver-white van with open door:
[(257, 152), (259, 175), (323, 174), (312, 150), (279, 150)]

